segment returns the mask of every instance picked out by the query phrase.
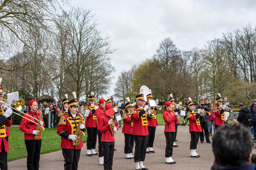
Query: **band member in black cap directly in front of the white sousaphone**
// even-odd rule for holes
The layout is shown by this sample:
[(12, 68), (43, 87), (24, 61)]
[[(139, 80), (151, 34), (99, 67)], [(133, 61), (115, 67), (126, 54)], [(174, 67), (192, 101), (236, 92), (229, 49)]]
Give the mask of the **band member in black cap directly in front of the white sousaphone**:
[(151, 112), (148, 111), (149, 106), (144, 106), (144, 95), (136, 96), (136, 105), (131, 109), (131, 117), (133, 121), (132, 134), (135, 141), (134, 162), (136, 169), (146, 169), (143, 162), (146, 156), (148, 143), (148, 119)]

